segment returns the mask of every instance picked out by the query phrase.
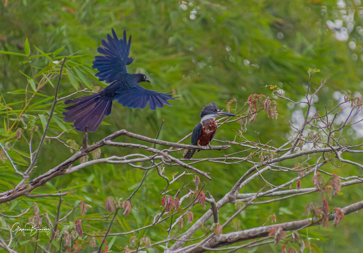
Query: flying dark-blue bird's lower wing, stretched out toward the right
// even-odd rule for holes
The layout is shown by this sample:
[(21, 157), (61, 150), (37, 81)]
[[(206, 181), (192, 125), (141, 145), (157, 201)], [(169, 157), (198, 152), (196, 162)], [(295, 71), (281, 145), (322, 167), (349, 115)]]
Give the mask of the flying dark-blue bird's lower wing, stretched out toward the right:
[(155, 110), (156, 107), (162, 108), (164, 105), (171, 106), (167, 100), (176, 99), (168, 93), (147, 90), (139, 84), (136, 84), (132, 88), (121, 88), (115, 93), (114, 99), (117, 99), (119, 104), (135, 109), (144, 109), (148, 104), (151, 110)]

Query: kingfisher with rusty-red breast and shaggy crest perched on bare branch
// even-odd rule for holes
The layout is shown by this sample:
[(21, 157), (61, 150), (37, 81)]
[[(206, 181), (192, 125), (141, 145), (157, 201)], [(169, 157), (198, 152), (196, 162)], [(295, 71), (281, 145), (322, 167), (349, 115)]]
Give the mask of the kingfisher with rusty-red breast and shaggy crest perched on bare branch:
[[(223, 112), (221, 111), (216, 103), (213, 102), (205, 105), (203, 110), (200, 113), (200, 122), (194, 127), (192, 133), (192, 141), (191, 145), (201, 146), (210, 146), (209, 142), (212, 141), (214, 135), (217, 130), (216, 117), (221, 116), (237, 116), (233, 113)], [(198, 150), (197, 152), (199, 152)], [(184, 158), (190, 159), (193, 157), (195, 153), (195, 149), (188, 149), (187, 153), (185, 153)]]

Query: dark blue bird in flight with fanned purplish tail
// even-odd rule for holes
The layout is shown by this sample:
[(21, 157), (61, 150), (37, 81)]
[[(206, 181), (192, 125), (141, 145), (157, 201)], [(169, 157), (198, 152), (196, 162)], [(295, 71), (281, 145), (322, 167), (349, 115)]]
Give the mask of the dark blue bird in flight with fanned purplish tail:
[(110, 115), (111, 106), (114, 99), (125, 107), (144, 109), (149, 105), (151, 110), (156, 107), (162, 108), (170, 105), (167, 100), (175, 99), (168, 93), (161, 93), (147, 90), (138, 83), (149, 82), (150, 79), (144, 74), (129, 74), (126, 65), (134, 61), (129, 57), (131, 46), (131, 35), (129, 42), (126, 40), (126, 30), (123, 31), (123, 39), (119, 39), (112, 28), (112, 35), (107, 34), (107, 41), (101, 40), (103, 47), (98, 47), (97, 51), (103, 56), (95, 56), (93, 69), (99, 72), (100, 81), (111, 83), (97, 94), (81, 98), (66, 100), (65, 104), (73, 104), (65, 107), (64, 121), (73, 122), (78, 131), (84, 131), (87, 126), (89, 132), (97, 130), (105, 116)]

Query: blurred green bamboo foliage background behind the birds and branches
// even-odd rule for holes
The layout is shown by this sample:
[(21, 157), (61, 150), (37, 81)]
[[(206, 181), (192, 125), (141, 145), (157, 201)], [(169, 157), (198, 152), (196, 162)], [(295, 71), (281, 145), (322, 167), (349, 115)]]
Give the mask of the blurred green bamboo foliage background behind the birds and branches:
[[(29, 153), (26, 140), (29, 141), (32, 130), (38, 126), (39, 130), (34, 133), (33, 138), (35, 150), (43, 130), (41, 117), (38, 115), (47, 117), (52, 103), (52, 100), (48, 100), (46, 103), (40, 102), (34, 107), (29, 107), (22, 121), (17, 119), (16, 115), (19, 115), (25, 96), (29, 99), (33, 94), (25, 75), (32, 77), (49, 66), (50, 69), (47, 71), (51, 72), (52, 67), (57, 69), (56, 63), (52, 62), (61, 61), (61, 56), (81, 55), (69, 58), (71, 62), (68, 65), (66, 63), (65, 68), (73, 71), (75, 80), (72, 84), (69, 78), (62, 77), (60, 96), (72, 94), (76, 91), (75, 88), (81, 90), (91, 86), (105, 87), (104, 83), (93, 77), (95, 71), (90, 66), (94, 56), (98, 55), (97, 46), (101, 45), (101, 39), (105, 39), (106, 34), (114, 28), (119, 37), (123, 29), (127, 30), (127, 34), (132, 34), (130, 56), (134, 57), (135, 61), (128, 66), (129, 72), (142, 72), (150, 76), (151, 84), (142, 83), (145, 88), (173, 92), (174, 95), (179, 95), (179, 100), (171, 101), (172, 107), (158, 108), (156, 111), (135, 110), (114, 103), (111, 115), (104, 120), (106, 124), (102, 124), (97, 132), (90, 134), (91, 143), (119, 129), (154, 138), (162, 120), (165, 122), (159, 139), (176, 142), (192, 131), (200, 120), (201, 108), (211, 100), (215, 101), (220, 109), (225, 109), (227, 102), (236, 98), (237, 108), (241, 108), (250, 94), (257, 93), (271, 96), (277, 101), (279, 117), (277, 120), (267, 119), (265, 113), (260, 113), (253, 125), (248, 126), (244, 137), (256, 140), (258, 132), (261, 142), (273, 140), (270, 144), (277, 147), (293, 134), (288, 121), (297, 123), (299, 115), (305, 111), (304, 108), (294, 107), (286, 100), (272, 96), (269, 87), (264, 86), (277, 85), (282, 88), (286, 97), (300, 101), (306, 95), (308, 68), (317, 68), (321, 71), (313, 76), (313, 90), (320, 85), (320, 80), (329, 78), (323, 92), (320, 92), (315, 100), (317, 110), (325, 110), (325, 104), (332, 109), (344, 94), (360, 96), (359, 92), (363, 87), (362, 18), (363, 5), (360, 0), (1, 0), (0, 50), (24, 54), (25, 38), (28, 38), (30, 44), (30, 56), (40, 54), (40, 51), (53, 53), (64, 46), (58, 55), (54, 54), (54, 57), (58, 58), (53, 59), (53, 54), (49, 54), (48, 57), (43, 55), (31, 59), (30, 63), (27, 57), (0, 54), (0, 112), (4, 118), (0, 119), (1, 142), (7, 142), (8, 146), (12, 147), (9, 154), (17, 163), (18, 169), (24, 171), (29, 166), (29, 159), (25, 157)], [(39, 82), (40, 78), (41, 76), (34, 79)], [(54, 75), (52, 82), (55, 84), (56, 80), (57, 75)], [(16, 90), (18, 91), (14, 92)], [(54, 88), (48, 83), (34, 96), (31, 104), (52, 96)], [(12, 108), (12, 111), (6, 107)], [(58, 103), (54, 116), (58, 117), (61, 123), (52, 121), (49, 136), (57, 136), (62, 130), (72, 128), (71, 124), (62, 123), (62, 107), (62, 103)], [(11, 128), (14, 122), (17, 123)], [(22, 129), (23, 136), (15, 141), (17, 129)], [(215, 138), (233, 140), (238, 129), (238, 123), (224, 125)], [(358, 143), (362, 136), (360, 129), (362, 128), (358, 127), (344, 133), (347, 142)], [(82, 133), (74, 130), (64, 134), (64, 141), (72, 140), (78, 145), (81, 145), (82, 138)], [(116, 140), (144, 144), (142, 141), (123, 136)], [(184, 143), (189, 144), (189, 141)], [(212, 145), (218, 144), (214, 142)], [(237, 150), (231, 149), (228, 152), (233, 153)], [(101, 157), (140, 153), (140, 150), (110, 147), (103, 147), (101, 151)], [(217, 157), (222, 153), (199, 152), (195, 157)], [(52, 169), (71, 155), (70, 149), (56, 140), (46, 141), (32, 178)], [(350, 158), (349, 155), (347, 158)], [(288, 161), (283, 165), (294, 167), (295, 162), (297, 161)], [(250, 165), (241, 163), (221, 166), (201, 163), (196, 167), (211, 173), (213, 180), (207, 182), (204, 190), (210, 191), (218, 200), (231, 189), (237, 178), (240, 178)], [(343, 177), (361, 174), (361, 171), (349, 166), (337, 169), (327, 164), (325, 169)], [(166, 167), (168, 177), (181, 171), (179, 167)], [(20, 181), (19, 177), (14, 176), (8, 161), (0, 163), (0, 174), (1, 191), (12, 188)], [(108, 222), (99, 221), (99, 217), (106, 214), (105, 199), (108, 196), (126, 199), (139, 185), (142, 177), (143, 171), (126, 165), (95, 165), (55, 178), (33, 193), (72, 191), (64, 197), (61, 216), (77, 206), (81, 200), (90, 204), (92, 208), (82, 216), (79, 208), (69, 216), (69, 228), (72, 228), (72, 220), (83, 219), (84, 231), (91, 233), (108, 227)], [(275, 185), (294, 177), (296, 173), (269, 172), (265, 175), (265, 178)], [(192, 178), (192, 175), (180, 178), (171, 186), (172, 191), (169, 194), (173, 196), (184, 182), (189, 183)], [(201, 182), (204, 181), (207, 180), (201, 178)], [(257, 178), (241, 193), (256, 192), (264, 185), (264, 181)], [(158, 194), (165, 186), (164, 179), (160, 178), (155, 170), (150, 171), (143, 186), (132, 198), (134, 207), (142, 207), (137, 212), (131, 211), (127, 217), (119, 213), (118, 224), (113, 225), (111, 232), (125, 232), (128, 227), (132, 230), (151, 223), (160, 210), (162, 196)], [(311, 186), (311, 178), (302, 181), (302, 188)], [(331, 208), (344, 207), (359, 201), (363, 194), (359, 185), (343, 188), (342, 191), (343, 195), (329, 202)], [(180, 196), (186, 193), (187, 189), (184, 189)], [(319, 205), (320, 199), (320, 194), (314, 193), (274, 202), (268, 205), (268, 212), (267, 205), (251, 206), (241, 213), (240, 224), (225, 228), (223, 233), (261, 226), (273, 213), (277, 216), (277, 223), (304, 219), (302, 214), (305, 212), (305, 206), (311, 202)], [(54, 219), (58, 198), (34, 200), (21, 197), (11, 203), (2, 204), (1, 211), (16, 215), (34, 201), (38, 203), (40, 212), (47, 212), (51, 220)], [(195, 219), (204, 213), (202, 206), (196, 206), (192, 211)], [(221, 220), (228, 219), (234, 211), (235, 207), (232, 204), (225, 206), (220, 211)], [(8, 238), (6, 226), (19, 220), (25, 222), (29, 216), (30, 214), (24, 215), (21, 219), (0, 219), (0, 236)], [(211, 223), (212, 221), (209, 221), (209, 224)], [(346, 216), (338, 228), (331, 225), (329, 229), (314, 227), (300, 231), (302, 239), (306, 239), (308, 232), (310, 243), (315, 245), (314, 249), (309, 251), (306, 248), (305, 252), (359, 252), (363, 239), (361, 223), (360, 214), (351, 214)], [(166, 239), (167, 233), (164, 231), (168, 226), (169, 221), (166, 221), (155, 229), (128, 236), (110, 237), (107, 240), (111, 250), (117, 252), (117, 247), (129, 245), (129, 248), (132, 248), (131, 236), (150, 237), (152, 242)], [(188, 227), (190, 225), (185, 223), (183, 229)], [(202, 233), (198, 231), (195, 237)], [(46, 236), (40, 236), (42, 237), (39, 244), (46, 245)], [(28, 252), (20, 245), (28, 245), (29, 249), (33, 249), (34, 242), (29, 240), (29, 236), (17, 235), (12, 246), (19, 252)], [(282, 245), (269, 244), (250, 249), (248, 252), (281, 252), (281, 247)], [(150, 252), (162, 252), (162, 248), (156, 247)]]

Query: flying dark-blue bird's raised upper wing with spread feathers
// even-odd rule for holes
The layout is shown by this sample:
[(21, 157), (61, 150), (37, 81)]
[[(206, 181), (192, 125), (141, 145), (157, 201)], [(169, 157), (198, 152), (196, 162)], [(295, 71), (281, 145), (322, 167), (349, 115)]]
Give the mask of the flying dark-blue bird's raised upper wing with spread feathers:
[(93, 69), (99, 71), (95, 76), (106, 83), (111, 83), (117, 80), (120, 74), (127, 73), (126, 65), (134, 61), (134, 58), (129, 57), (131, 35), (127, 43), (126, 30), (123, 30), (123, 39), (118, 39), (115, 30), (113, 28), (111, 30), (113, 37), (107, 34), (107, 41), (101, 40), (103, 47), (97, 48), (97, 51), (103, 56), (95, 56), (92, 66)]

